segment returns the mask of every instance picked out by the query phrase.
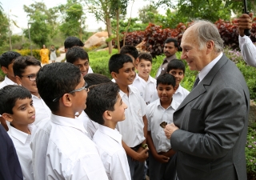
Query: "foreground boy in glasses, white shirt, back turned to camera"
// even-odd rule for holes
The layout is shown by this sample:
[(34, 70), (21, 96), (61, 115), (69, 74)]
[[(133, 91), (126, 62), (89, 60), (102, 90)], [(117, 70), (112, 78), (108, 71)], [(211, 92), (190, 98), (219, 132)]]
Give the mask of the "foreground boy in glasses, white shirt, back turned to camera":
[(52, 112), (50, 122), (39, 126), (34, 135), (36, 143), (31, 144), (37, 150), (33, 152), (34, 162), (38, 162), (38, 156), (46, 158), (45, 163), (34, 163), (34, 170), (45, 173), (37, 173), (37, 178), (108, 179), (97, 146), (86, 136), (82, 120), (75, 118), (76, 112), (86, 109), (89, 90), (78, 67), (70, 63), (43, 66), (37, 86)]

